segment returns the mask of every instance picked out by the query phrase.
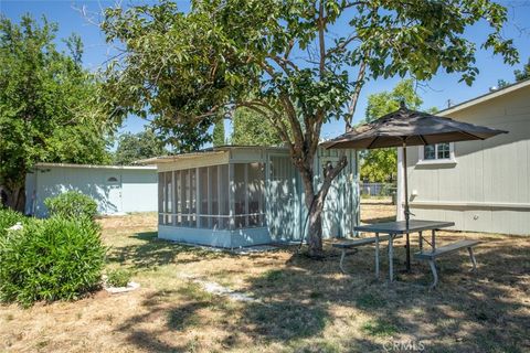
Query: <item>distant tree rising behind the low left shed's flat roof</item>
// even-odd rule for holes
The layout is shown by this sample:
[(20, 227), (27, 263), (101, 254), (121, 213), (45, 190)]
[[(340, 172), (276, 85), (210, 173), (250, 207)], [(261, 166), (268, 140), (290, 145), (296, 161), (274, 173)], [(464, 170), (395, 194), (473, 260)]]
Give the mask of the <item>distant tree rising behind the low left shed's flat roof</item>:
[(123, 133), (118, 138), (118, 147), (114, 153), (114, 163), (118, 165), (131, 164), (140, 159), (168, 154), (163, 142), (152, 130), (146, 129), (138, 133)]

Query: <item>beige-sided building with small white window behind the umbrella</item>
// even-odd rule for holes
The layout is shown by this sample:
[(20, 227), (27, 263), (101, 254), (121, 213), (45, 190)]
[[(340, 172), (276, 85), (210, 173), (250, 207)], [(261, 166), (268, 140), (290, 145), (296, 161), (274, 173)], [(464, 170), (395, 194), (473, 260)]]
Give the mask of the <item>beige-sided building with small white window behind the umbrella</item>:
[[(509, 133), (485, 141), (410, 147), (411, 212), (416, 218), (453, 221), (460, 231), (530, 234), (530, 81), (438, 115)], [(402, 183), (400, 175), (399, 205), (404, 202)]]

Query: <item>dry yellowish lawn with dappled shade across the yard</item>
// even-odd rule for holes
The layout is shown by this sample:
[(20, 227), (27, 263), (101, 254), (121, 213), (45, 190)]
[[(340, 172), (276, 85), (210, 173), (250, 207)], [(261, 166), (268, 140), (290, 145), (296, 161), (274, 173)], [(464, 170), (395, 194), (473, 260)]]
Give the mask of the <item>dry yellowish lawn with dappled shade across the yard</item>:
[[(368, 203), (363, 221), (392, 211)], [(26, 310), (0, 307), (0, 352), (381, 352), (393, 343), (425, 352), (530, 350), (528, 238), (441, 233), (441, 244), (484, 240), (479, 271), (467, 271), (464, 252), (447, 256), (439, 287), (428, 291), (424, 264), (391, 286), (375, 281), (370, 246), (350, 257), (347, 276), (337, 257), (315, 261), (294, 248), (234, 255), (159, 240), (155, 215), (100, 222), (109, 268), (128, 268), (141, 288)], [(400, 268), (403, 255), (398, 246)], [(255, 300), (211, 295), (206, 281)]]

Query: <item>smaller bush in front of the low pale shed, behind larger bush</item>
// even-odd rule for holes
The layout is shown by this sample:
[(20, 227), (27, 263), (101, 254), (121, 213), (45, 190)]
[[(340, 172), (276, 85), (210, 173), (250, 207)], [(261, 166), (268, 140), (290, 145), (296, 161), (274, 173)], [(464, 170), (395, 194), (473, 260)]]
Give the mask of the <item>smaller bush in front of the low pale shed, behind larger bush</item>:
[(97, 203), (91, 196), (81, 192), (68, 191), (55, 197), (44, 200), (51, 216), (65, 218), (94, 220), (97, 215)]

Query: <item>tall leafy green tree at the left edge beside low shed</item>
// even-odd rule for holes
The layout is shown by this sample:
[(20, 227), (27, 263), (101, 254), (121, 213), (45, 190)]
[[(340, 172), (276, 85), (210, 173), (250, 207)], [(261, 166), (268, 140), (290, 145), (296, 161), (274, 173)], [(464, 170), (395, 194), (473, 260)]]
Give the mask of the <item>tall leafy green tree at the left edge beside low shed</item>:
[(56, 31), (45, 18), (23, 15), (19, 24), (0, 18), (0, 197), (18, 211), (34, 163), (109, 161), (81, 40), (71, 36), (70, 53), (59, 52)]

